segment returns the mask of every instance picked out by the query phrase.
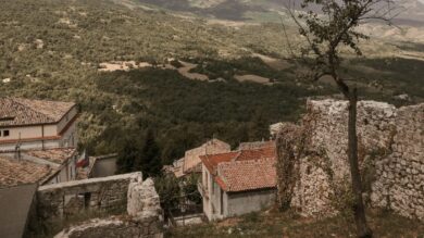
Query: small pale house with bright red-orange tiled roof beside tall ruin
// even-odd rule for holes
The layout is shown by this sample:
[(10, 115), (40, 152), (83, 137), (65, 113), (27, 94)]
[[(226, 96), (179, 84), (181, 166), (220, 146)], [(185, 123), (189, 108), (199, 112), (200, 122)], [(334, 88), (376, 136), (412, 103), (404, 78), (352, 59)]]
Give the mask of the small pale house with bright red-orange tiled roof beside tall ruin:
[(201, 155), (199, 191), (210, 221), (260, 211), (275, 203), (275, 146)]

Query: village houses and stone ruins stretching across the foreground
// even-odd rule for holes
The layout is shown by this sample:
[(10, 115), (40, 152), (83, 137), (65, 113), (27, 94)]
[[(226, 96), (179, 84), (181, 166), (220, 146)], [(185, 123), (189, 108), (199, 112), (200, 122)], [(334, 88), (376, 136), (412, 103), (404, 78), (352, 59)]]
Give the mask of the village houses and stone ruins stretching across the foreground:
[[(287, 197), (301, 216), (334, 216), (340, 212), (334, 195), (349, 173), (346, 108), (344, 101), (309, 100), (298, 124), (271, 125), (266, 140), (232, 149), (213, 138), (186, 151), (162, 174), (184, 188), (188, 179), (180, 178), (190, 177), (195, 189), (182, 189), (170, 205), (157, 191), (160, 180), (117, 174), (116, 153), (91, 156), (77, 148), (75, 103), (2, 98), (0, 233), (162, 237), (164, 227), (264, 211)], [(358, 122), (361, 170), (373, 176), (365, 180), (367, 204), (424, 220), (424, 104), (361, 101)], [(190, 199), (195, 193), (198, 200)], [(86, 218), (70, 222), (80, 214)]]

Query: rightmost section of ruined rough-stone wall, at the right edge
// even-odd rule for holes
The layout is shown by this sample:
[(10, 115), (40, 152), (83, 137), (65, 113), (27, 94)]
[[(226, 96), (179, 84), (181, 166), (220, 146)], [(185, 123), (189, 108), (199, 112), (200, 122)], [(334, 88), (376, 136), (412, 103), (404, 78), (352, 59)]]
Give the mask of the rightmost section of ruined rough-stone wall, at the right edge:
[(424, 220), (424, 104), (397, 111), (391, 150), (377, 163), (372, 203)]

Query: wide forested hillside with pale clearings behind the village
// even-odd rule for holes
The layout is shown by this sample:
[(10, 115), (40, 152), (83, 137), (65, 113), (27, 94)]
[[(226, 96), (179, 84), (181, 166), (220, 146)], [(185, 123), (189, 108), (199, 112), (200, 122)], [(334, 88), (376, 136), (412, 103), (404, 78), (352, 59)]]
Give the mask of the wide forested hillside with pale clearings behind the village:
[[(116, 0), (0, 5), (1, 97), (76, 101), (80, 146), (90, 153), (114, 152), (124, 137), (144, 140), (150, 128), (171, 163), (213, 136), (232, 146), (266, 139), (269, 124), (296, 120), (307, 97), (335, 92), (299, 80), (280, 24), (216, 23)], [(372, 39), (364, 47), (369, 59), (346, 61), (364, 97), (422, 100), (423, 45)], [(101, 71), (116, 61), (149, 66)], [(209, 80), (189, 79), (179, 62)]]

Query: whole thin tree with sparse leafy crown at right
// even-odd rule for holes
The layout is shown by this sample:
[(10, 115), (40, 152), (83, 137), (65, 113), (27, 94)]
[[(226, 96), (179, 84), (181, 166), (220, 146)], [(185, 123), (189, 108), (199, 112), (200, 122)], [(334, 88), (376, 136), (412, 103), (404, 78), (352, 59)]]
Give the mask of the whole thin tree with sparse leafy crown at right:
[[(324, 76), (333, 78), (340, 92), (349, 101), (348, 120), (348, 158), (351, 173), (352, 191), (354, 195), (353, 214), (359, 237), (372, 237), (372, 230), (365, 218), (365, 208), (362, 199), (362, 181), (358, 163), (357, 136), (357, 103), (358, 90), (354, 85), (347, 84), (347, 78), (340, 75), (341, 49), (351, 49), (357, 55), (362, 55), (360, 40), (369, 36), (358, 30), (358, 27), (370, 21), (391, 20), (400, 12), (392, 0), (289, 0), (286, 4), (291, 18), (299, 28), (307, 43), (296, 59), (309, 67), (308, 78), (319, 80)], [(286, 28), (284, 28), (286, 29)], [(285, 30), (287, 36), (287, 33)], [(288, 37), (287, 37), (288, 40)], [(295, 54), (290, 42), (290, 53)]]

